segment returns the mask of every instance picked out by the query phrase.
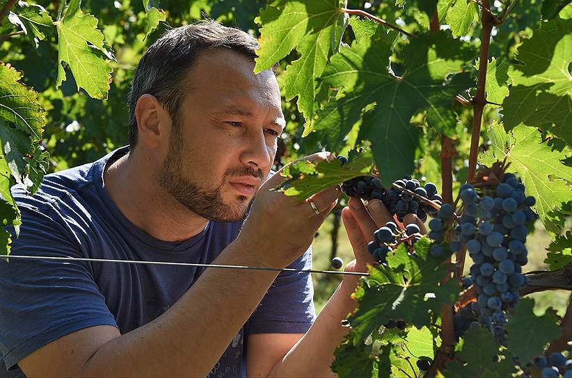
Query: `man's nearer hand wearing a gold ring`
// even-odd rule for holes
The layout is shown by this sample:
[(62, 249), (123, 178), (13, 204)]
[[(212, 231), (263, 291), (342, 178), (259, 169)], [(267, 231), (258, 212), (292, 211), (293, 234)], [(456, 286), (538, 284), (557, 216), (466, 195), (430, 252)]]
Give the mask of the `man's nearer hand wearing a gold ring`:
[[(319, 163), (333, 161), (329, 152), (319, 152), (303, 158)], [(326, 216), (340, 197), (340, 187), (326, 188), (300, 202), (283, 192), (272, 190), (285, 181), (284, 167), (267, 179), (257, 191), (251, 213), (236, 240), (254, 261), (269, 268), (284, 268), (305, 252)], [(316, 214), (310, 201), (319, 209)]]

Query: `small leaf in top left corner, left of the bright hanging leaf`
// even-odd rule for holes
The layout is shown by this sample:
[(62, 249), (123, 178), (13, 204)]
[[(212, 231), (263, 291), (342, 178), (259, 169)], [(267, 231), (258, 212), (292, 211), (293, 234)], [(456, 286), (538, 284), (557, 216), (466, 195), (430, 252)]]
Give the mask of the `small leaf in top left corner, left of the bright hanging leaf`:
[(13, 24), (17, 23), (35, 46), (38, 46), (38, 40), (45, 40), (54, 33), (54, 20), (44, 7), (18, 1), (15, 10), (16, 13), (10, 12), (8, 19)]

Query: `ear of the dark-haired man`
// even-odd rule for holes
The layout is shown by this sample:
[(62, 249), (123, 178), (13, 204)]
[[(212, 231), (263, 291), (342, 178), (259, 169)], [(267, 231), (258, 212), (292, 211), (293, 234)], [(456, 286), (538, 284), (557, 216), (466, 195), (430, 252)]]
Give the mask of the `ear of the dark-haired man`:
[[(168, 133), (165, 126), (170, 127), (170, 116), (161, 106), (157, 97), (152, 94), (143, 94), (135, 106), (135, 119), (137, 120), (137, 143), (149, 148), (159, 148)], [(166, 125), (168, 123), (168, 125)]]

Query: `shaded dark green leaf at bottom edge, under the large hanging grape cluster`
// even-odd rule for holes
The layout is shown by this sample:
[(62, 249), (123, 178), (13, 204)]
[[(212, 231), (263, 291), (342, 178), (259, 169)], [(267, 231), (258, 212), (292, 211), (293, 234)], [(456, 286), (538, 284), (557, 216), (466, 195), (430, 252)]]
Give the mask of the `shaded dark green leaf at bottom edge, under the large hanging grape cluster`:
[(466, 365), (459, 361), (447, 363), (445, 370), (442, 371), (443, 377), (511, 377), (516, 371), (511, 355), (505, 352), (504, 359), (494, 362), (493, 357), (498, 354), (498, 344), (491, 332), (484, 327), (472, 327), (465, 333), (463, 349), (456, 354), (456, 357)]

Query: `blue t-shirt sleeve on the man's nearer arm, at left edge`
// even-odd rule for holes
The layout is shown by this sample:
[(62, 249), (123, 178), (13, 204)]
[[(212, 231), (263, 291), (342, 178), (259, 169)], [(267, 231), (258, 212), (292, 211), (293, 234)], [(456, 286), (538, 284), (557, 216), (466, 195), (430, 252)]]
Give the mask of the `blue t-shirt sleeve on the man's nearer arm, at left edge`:
[[(10, 254), (86, 257), (71, 229), (49, 209), (19, 209), (19, 238), (8, 229)], [(0, 349), (8, 369), (43, 345), (95, 325), (117, 327), (88, 263), (0, 259)]]

